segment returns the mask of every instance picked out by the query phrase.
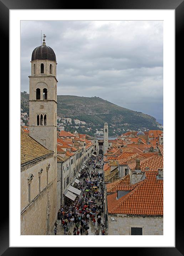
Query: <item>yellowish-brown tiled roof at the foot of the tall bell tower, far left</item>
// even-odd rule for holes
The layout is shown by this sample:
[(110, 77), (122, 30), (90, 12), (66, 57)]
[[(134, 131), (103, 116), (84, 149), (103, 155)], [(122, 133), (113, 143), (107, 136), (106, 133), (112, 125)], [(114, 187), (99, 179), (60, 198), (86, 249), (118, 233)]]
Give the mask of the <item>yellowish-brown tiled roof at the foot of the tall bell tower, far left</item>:
[(21, 165), (53, 153), (21, 131)]

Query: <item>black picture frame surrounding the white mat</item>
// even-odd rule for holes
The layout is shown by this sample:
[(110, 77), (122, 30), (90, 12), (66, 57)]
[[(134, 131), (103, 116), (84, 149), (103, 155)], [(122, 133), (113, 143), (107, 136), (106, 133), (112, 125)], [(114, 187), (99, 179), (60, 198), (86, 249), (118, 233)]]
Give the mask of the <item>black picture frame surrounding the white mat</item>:
[[(72, 6), (72, 8), (71, 8)], [(183, 60), (183, 40), (184, 28), (184, 1), (183, 0), (99, 0), (93, 1), (91, 6), (83, 2), (59, 1), (59, 0), (0, 0), (0, 31), (1, 31), (1, 54), (5, 53), (4, 61), (6, 67), (9, 67), (9, 10), (12, 9), (172, 9), (175, 10), (175, 85), (179, 86), (183, 78), (183, 64), (180, 65), (180, 59)], [(6, 78), (9, 77), (8, 69), (5, 69)], [(6, 88), (7, 95), (7, 88)], [(174, 134), (172, 134), (174, 136)], [(173, 156), (174, 157), (174, 156)], [(11, 159), (10, 159), (11, 161)], [(179, 170), (180, 171), (180, 170)], [(174, 170), (173, 170), (174, 173)], [(177, 175), (176, 175), (177, 177)], [(9, 173), (4, 171), (4, 181), (9, 180)], [(180, 197), (179, 188), (182, 186), (182, 179), (176, 178), (175, 199)], [(183, 197), (180, 197), (182, 200)], [(182, 200), (183, 201), (183, 200)], [(162, 255), (162, 256), (180, 256), (184, 255), (184, 239), (180, 201), (175, 205), (175, 247), (128, 247), (129, 252), (136, 255)], [(1, 196), (1, 232), (0, 232), (0, 255), (37, 255), (42, 253), (43, 248), (35, 247), (9, 247), (9, 194), (6, 187), (6, 196)], [(16, 221), (16, 220), (14, 220)], [(143, 238), (144, 239), (144, 238)], [(121, 245), (120, 245), (121, 246)], [(145, 245), (146, 246), (146, 245)], [(123, 251), (126, 248), (123, 248)], [(47, 253), (53, 253), (53, 248), (46, 248)]]

